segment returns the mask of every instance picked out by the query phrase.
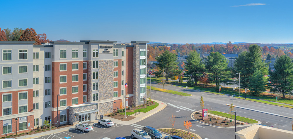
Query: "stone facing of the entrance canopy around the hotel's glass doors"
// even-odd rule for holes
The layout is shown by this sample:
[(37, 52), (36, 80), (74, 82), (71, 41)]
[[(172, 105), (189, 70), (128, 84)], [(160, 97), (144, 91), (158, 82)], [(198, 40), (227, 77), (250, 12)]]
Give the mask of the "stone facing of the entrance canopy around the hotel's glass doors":
[(69, 113), (69, 124), (75, 125), (75, 124), (79, 123), (79, 115), (76, 114), (76, 112), (90, 111), (90, 110), (95, 110), (96, 108), (97, 108), (97, 105), (84, 106), (84, 107), (78, 107), (78, 108), (69, 107), (69, 112), (68, 112)]

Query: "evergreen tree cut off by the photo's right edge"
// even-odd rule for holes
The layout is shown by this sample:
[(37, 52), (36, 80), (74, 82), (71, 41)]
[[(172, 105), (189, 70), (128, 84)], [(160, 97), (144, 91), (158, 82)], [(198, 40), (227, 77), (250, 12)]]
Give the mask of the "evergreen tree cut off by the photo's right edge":
[(286, 94), (293, 94), (293, 63), (287, 55), (282, 55), (274, 64), (275, 71), (269, 71), (269, 84), (272, 92), (280, 92), (283, 98)]

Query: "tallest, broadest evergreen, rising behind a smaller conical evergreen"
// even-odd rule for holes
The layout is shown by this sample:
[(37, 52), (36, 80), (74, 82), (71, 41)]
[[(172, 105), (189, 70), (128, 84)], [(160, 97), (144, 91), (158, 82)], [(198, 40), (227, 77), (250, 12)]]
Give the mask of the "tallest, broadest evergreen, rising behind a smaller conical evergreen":
[[(263, 75), (268, 75), (268, 64), (262, 60), (262, 48), (254, 44), (248, 47), (248, 51), (241, 53), (234, 62), (234, 74), (240, 73), (240, 85), (249, 88), (249, 79), (253, 72), (258, 69)], [(236, 75), (237, 76), (237, 75)], [(235, 77), (236, 77), (235, 76)], [(238, 77), (238, 76), (237, 76)]]

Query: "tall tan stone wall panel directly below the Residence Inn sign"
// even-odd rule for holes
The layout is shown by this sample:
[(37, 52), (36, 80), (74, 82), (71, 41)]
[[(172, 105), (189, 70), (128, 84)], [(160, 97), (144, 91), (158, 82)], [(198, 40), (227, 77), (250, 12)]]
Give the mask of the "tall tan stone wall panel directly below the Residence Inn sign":
[[(114, 63), (114, 60), (99, 60), (99, 101), (114, 98), (113, 97), (113, 90), (114, 90), (113, 63)], [(113, 106), (111, 106), (111, 108), (112, 107)]]

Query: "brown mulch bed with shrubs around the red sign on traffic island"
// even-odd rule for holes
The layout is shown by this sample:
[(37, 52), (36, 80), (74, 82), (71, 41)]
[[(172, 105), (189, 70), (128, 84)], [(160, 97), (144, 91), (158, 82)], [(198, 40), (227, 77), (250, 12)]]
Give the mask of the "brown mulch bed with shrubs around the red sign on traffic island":
[[(226, 120), (225, 120), (223, 118), (217, 117), (218, 118), (217, 120), (212, 119), (212, 121), (209, 121), (209, 118), (212, 118), (212, 117), (208, 117), (208, 119), (202, 120), (202, 117), (200, 117), (200, 116), (202, 116), (202, 114), (196, 114), (196, 113), (193, 114), (193, 117), (195, 119), (197, 119), (198, 121), (205, 122), (207, 124), (212, 124), (215, 126), (222, 126), (222, 127), (235, 126), (235, 121), (230, 122), (230, 118), (226, 118)], [(215, 116), (213, 116), (213, 117), (215, 118)], [(218, 123), (216, 123), (216, 121), (218, 121)], [(241, 125), (241, 123), (239, 123), (239, 124), (236, 123), (236, 126), (238, 126), (238, 125)]]

